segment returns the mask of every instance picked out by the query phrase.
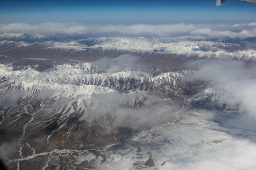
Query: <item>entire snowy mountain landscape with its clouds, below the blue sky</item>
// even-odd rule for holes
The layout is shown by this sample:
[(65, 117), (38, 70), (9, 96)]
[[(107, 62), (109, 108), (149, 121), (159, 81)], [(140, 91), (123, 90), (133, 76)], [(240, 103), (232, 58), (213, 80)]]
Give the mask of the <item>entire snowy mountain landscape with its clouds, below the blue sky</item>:
[(8, 169), (255, 169), (255, 23), (0, 31)]

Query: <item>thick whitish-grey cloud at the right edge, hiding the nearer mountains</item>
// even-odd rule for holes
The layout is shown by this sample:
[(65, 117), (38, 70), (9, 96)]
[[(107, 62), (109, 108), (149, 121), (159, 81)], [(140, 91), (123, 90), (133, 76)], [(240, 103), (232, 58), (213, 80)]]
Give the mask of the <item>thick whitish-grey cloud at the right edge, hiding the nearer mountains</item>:
[(234, 60), (197, 61), (190, 66), (199, 68), (190, 78), (209, 81), (217, 102), (239, 105), (256, 117), (256, 68)]

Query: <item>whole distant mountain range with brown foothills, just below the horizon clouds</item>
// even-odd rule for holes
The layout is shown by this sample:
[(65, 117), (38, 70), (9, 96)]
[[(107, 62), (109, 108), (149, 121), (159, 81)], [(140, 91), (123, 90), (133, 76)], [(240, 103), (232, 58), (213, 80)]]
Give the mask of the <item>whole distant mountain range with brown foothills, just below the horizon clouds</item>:
[[(233, 41), (233, 42), (232, 42)], [(239, 59), (256, 58), (255, 40), (212, 40), (206, 37), (77, 37), (41, 34), (0, 34), (0, 59), (4, 63), (27, 59), (53, 59), (57, 63), (95, 61), (102, 57), (117, 57), (124, 53), (146, 57), (168, 56), (187, 59)], [(146, 54), (146, 55), (145, 55)], [(53, 60), (45, 60), (46, 63)]]

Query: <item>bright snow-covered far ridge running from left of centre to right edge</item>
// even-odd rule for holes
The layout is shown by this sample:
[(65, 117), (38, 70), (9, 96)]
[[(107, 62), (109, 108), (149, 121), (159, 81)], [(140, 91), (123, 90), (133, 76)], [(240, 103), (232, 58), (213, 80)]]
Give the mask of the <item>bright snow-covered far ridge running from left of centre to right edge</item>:
[[(175, 53), (185, 57), (254, 59), (256, 51), (238, 43), (194, 41), (182, 37), (166, 38), (94, 38), (77, 40), (90, 48), (119, 51)], [(241, 51), (243, 50), (243, 51)]]

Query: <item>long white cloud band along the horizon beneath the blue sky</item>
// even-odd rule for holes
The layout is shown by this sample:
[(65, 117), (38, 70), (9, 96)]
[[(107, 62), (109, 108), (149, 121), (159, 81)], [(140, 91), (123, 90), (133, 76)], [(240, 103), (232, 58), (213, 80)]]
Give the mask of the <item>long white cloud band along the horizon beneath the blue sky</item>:
[(86, 38), (99, 36), (208, 36), (247, 38), (256, 36), (256, 24), (165, 24), (85, 25), (81, 23), (0, 24), (1, 33), (69, 34)]

